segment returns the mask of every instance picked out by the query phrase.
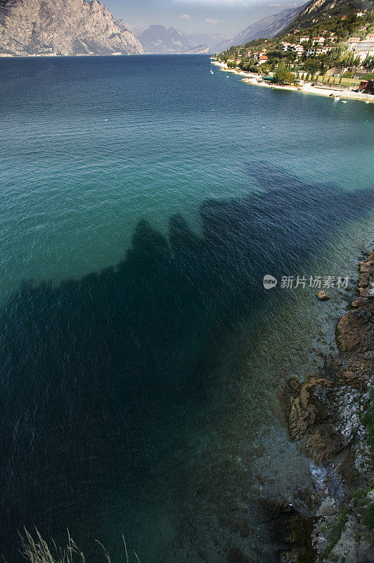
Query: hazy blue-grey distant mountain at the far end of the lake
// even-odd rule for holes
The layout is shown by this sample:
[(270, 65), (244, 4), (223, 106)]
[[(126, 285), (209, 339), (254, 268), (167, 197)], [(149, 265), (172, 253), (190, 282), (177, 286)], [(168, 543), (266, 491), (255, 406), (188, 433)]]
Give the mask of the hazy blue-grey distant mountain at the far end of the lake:
[(176, 55), (181, 53), (210, 53), (212, 46), (221, 38), (219, 34), (186, 35), (174, 27), (164, 25), (150, 25), (138, 39), (146, 53), (164, 53)]

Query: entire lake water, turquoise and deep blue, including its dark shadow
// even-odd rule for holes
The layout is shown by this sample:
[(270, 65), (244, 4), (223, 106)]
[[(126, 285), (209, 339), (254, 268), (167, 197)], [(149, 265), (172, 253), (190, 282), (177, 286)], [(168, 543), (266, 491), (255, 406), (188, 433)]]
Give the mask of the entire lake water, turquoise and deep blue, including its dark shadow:
[(90, 561), (96, 538), (120, 560), (124, 533), (142, 563), (271, 562), (256, 498), (311, 486), (276, 391), (322, 365), (348, 297), (321, 309), (262, 277), (354, 277), (373, 106), (250, 87), (206, 56), (0, 72), (4, 554), (36, 525)]

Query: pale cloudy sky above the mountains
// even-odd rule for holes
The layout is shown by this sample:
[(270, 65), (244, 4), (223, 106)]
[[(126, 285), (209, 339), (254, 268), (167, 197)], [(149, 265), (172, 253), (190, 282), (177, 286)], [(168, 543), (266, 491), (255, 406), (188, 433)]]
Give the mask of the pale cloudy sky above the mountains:
[(115, 19), (130, 25), (175, 27), (191, 33), (219, 33), (226, 39), (267, 15), (306, 0), (101, 0)]

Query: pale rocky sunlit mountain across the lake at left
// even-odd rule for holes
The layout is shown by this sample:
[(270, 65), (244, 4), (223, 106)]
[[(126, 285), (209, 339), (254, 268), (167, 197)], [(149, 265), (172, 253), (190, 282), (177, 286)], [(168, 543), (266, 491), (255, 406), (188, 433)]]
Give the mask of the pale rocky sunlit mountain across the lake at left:
[(143, 48), (98, 0), (0, 0), (0, 51), (128, 55)]

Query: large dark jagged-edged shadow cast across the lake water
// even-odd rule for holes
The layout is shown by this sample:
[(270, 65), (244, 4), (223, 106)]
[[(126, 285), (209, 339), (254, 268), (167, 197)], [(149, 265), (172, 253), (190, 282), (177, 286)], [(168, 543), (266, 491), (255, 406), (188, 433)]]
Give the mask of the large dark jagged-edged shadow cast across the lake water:
[(79, 542), (94, 523), (100, 538), (119, 474), (134, 510), (151, 497), (167, 480), (160, 452), (169, 455), (155, 443), (165, 427), (177, 436), (196, 405), (204, 412), (215, 346), (274, 298), (264, 274), (302, 273), (342, 222), (368, 212), (367, 191), (246, 166), (258, 191), (206, 201), (199, 235), (180, 215), (167, 236), (141, 220), (115, 267), (23, 284), (1, 311), (0, 545), (10, 563), (22, 526), (47, 537), (68, 526)]

